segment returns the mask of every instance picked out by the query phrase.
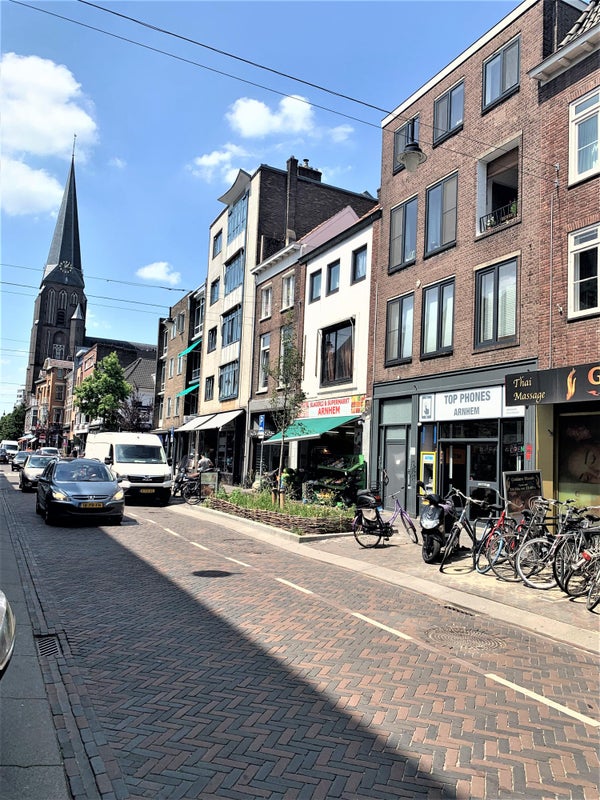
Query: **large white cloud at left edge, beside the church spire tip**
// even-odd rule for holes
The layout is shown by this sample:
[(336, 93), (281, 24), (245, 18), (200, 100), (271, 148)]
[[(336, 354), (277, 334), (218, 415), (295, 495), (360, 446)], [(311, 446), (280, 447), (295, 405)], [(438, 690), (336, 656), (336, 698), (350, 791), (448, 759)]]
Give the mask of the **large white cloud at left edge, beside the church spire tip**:
[(62, 188), (57, 192), (58, 182), (32, 166), (32, 159), (69, 158), (76, 134), (76, 153), (84, 161), (98, 135), (93, 105), (67, 67), (49, 59), (6, 53), (0, 69), (2, 209), (7, 214), (55, 210)]

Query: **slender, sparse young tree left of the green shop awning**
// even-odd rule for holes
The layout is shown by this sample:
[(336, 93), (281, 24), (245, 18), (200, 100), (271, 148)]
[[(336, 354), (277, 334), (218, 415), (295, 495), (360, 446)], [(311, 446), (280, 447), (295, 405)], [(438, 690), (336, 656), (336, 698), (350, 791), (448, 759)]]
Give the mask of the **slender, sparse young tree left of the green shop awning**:
[(284, 321), (285, 324), (281, 329), (279, 359), (276, 364), (267, 371), (272, 381), (269, 396), (271, 418), (276, 431), (281, 432), (279, 468), (277, 470), (279, 477), (278, 485), (280, 484), (281, 473), (283, 472), (283, 449), (286, 441), (285, 432), (297, 418), (302, 404), (306, 399), (306, 395), (302, 391), (304, 362), (302, 354), (297, 346), (293, 315), (291, 313), (288, 314)]

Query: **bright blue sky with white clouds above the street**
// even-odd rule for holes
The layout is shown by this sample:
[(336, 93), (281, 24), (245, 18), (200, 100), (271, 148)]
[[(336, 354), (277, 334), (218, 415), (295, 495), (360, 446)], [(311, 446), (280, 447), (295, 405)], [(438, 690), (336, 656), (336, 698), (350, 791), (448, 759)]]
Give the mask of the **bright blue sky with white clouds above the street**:
[(385, 112), (518, 4), (97, 2), (174, 37), (79, 0), (2, 0), (0, 414), (25, 379), (74, 134), (87, 332), (155, 343), (204, 281), (238, 169), (294, 155), (375, 195)]

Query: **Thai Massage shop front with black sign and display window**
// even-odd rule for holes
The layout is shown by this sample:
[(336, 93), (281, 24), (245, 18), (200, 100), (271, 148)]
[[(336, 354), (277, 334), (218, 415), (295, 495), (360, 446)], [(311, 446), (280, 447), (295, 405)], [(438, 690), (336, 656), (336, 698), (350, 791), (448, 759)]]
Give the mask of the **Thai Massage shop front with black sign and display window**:
[(511, 373), (506, 403), (535, 410), (545, 496), (600, 504), (600, 363)]

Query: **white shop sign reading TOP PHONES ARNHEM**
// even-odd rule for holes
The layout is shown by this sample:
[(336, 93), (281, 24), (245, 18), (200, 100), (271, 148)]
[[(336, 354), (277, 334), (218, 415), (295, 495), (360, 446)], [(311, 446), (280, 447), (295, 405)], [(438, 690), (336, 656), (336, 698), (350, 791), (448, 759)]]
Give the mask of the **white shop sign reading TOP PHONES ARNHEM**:
[[(457, 389), (453, 392), (437, 392), (419, 397), (420, 422), (444, 422), (463, 419), (494, 419), (517, 416), (517, 409), (507, 413), (503, 403), (502, 386)], [(521, 416), (524, 409), (520, 411)]]

